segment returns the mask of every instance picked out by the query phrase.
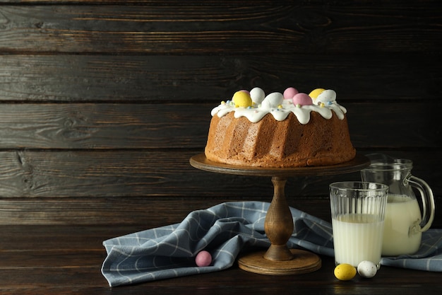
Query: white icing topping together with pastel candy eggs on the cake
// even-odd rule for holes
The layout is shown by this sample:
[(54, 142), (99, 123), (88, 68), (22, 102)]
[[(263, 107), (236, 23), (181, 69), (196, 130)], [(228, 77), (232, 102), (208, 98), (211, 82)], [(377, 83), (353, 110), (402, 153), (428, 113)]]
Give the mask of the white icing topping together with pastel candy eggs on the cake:
[[(251, 103), (248, 103), (247, 96), (251, 98)], [(283, 121), (292, 112), (299, 123), (305, 125), (310, 121), (311, 112), (318, 112), (328, 120), (333, 115), (332, 111), (340, 120), (344, 119), (347, 112), (342, 105), (336, 103), (336, 93), (331, 89), (318, 88), (311, 91), (310, 95), (306, 95), (298, 93), (294, 88), (287, 88), (284, 95), (274, 92), (265, 96), (264, 91), (256, 87), (250, 92), (238, 91), (232, 100), (222, 102), (213, 108), (211, 115), (222, 117), (229, 112), (234, 112), (234, 117), (246, 117), (250, 122), (256, 123), (269, 113), (273, 115), (275, 120)]]

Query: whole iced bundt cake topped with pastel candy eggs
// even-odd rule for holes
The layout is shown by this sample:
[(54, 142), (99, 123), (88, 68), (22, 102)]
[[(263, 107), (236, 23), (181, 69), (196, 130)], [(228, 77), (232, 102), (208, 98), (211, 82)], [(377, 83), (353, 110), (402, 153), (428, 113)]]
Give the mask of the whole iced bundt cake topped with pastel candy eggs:
[(347, 110), (335, 91), (318, 88), (265, 96), (261, 88), (237, 91), (211, 112), (205, 146), (210, 161), (235, 166), (330, 166), (356, 156)]

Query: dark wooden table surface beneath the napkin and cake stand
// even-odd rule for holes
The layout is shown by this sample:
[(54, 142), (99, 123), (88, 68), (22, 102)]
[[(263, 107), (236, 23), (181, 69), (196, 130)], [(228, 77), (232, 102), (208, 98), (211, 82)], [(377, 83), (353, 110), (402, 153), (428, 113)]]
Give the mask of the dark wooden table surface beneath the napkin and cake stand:
[(381, 267), (376, 277), (340, 282), (333, 258), (309, 274), (229, 270), (110, 288), (102, 241), (143, 226), (0, 226), (0, 294), (441, 294), (436, 272)]

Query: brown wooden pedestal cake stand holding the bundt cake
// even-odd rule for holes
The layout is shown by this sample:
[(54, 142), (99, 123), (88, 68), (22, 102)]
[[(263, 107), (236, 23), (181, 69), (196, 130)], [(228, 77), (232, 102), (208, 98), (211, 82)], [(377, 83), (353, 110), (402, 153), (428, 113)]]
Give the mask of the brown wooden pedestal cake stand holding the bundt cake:
[(290, 176), (338, 175), (352, 173), (370, 165), (369, 158), (357, 154), (346, 163), (333, 166), (310, 166), (299, 168), (262, 168), (232, 166), (209, 161), (204, 154), (190, 159), (191, 166), (217, 173), (235, 175), (270, 176), (274, 194), (265, 215), (264, 231), (271, 245), (268, 250), (249, 253), (239, 258), (241, 270), (258, 274), (304, 274), (321, 268), (321, 258), (306, 250), (289, 249), (287, 241), (294, 230), (292, 213), (285, 199), (285, 183)]

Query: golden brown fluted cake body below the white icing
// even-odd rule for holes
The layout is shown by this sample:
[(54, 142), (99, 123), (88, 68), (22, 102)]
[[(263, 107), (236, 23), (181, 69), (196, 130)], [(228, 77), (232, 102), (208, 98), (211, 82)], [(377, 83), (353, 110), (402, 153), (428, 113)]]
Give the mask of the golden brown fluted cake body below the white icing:
[(229, 165), (288, 168), (344, 163), (356, 156), (356, 150), (347, 117), (326, 120), (313, 112), (311, 122), (302, 125), (293, 114), (283, 121), (268, 114), (252, 123), (230, 112), (212, 117), (205, 156)]

